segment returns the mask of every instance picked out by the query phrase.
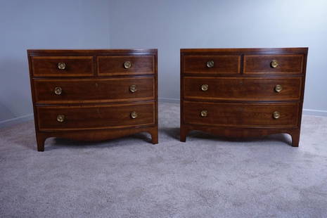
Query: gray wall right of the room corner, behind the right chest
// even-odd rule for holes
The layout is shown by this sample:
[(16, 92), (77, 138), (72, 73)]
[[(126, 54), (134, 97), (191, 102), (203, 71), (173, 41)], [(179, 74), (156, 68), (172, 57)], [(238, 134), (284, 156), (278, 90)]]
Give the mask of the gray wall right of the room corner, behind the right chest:
[(115, 0), (110, 45), (158, 48), (166, 99), (179, 98), (180, 48), (309, 46), (304, 108), (327, 115), (326, 8), (326, 0)]

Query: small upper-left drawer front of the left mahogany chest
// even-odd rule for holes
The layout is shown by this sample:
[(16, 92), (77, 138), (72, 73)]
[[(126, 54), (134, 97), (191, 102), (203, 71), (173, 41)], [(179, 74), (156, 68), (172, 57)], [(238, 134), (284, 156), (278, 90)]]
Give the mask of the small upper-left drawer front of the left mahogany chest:
[(34, 56), (34, 77), (79, 77), (94, 75), (92, 56)]

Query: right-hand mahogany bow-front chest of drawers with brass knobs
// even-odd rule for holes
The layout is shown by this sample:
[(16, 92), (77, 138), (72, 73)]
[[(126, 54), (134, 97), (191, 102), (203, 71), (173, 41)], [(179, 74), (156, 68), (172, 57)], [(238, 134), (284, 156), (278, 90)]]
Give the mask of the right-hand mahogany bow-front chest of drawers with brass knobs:
[(307, 51), (181, 49), (181, 141), (287, 133), (298, 146)]

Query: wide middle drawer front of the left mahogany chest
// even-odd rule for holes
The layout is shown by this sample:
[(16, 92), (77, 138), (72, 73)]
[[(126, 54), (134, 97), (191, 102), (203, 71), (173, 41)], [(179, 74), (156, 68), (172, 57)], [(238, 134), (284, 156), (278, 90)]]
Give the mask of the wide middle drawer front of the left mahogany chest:
[(154, 77), (34, 79), (36, 103), (146, 101), (155, 98)]

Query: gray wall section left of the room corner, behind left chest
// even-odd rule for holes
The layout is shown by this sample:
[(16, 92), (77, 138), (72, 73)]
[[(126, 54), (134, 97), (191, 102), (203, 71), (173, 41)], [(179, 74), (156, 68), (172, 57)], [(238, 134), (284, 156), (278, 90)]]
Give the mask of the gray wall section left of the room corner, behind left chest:
[(109, 1), (10, 0), (0, 6), (0, 124), (30, 115), (26, 49), (109, 47)]

